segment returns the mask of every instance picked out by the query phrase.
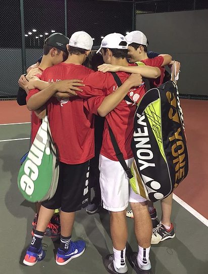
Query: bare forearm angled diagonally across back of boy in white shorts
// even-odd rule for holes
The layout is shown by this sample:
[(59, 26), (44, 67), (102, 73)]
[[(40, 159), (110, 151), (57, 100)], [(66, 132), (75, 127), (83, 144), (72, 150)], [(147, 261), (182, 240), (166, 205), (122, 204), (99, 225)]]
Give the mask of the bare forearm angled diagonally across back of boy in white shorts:
[(124, 99), (132, 86), (139, 86), (142, 83), (140, 74), (131, 74), (129, 78), (112, 94), (108, 95), (97, 109), (101, 117), (105, 117), (109, 112), (115, 109)]

